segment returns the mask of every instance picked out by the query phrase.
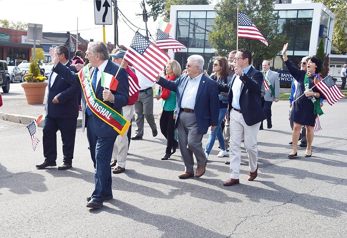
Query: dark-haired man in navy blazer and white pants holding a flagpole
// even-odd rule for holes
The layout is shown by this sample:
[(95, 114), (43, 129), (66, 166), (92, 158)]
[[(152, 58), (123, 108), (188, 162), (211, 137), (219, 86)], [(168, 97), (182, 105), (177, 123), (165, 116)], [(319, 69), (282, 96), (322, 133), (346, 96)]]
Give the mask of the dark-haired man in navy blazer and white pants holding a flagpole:
[(257, 177), (257, 136), (261, 121), (266, 119), (260, 99), (263, 75), (251, 66), (251, 51), (238, 50), (234, 62), (236, 63), (235, 75), (230, 84), (218, 84), (221, 92), (229, 92), (230, 179), (223, 183), (225, 186), (239, 184), (240, 144), (243, 134), (245, 135), (245, 148), (249, 159), (248, 180), (252, 181)]

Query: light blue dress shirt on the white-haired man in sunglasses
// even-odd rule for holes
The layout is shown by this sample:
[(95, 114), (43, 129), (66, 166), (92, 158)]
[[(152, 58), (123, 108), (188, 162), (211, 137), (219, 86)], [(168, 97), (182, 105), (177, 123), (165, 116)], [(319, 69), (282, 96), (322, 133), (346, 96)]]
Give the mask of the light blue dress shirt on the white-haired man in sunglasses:
[(194, 110), (197, 89), (199, 88), (202, 74), (203, 73), (199, 74), (195, 78), (188, 77), (188, 83), (182, 95), (180, 108)]

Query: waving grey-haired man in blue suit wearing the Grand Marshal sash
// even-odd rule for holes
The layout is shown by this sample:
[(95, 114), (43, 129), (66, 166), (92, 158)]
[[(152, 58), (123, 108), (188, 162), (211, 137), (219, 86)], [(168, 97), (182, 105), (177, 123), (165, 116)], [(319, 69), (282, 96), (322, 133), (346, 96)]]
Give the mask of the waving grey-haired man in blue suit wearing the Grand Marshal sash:
[[(54, 64), (53, 71), (60, 74), (70, 84), (81, 86), (78, 75), (68, 70), (58, 61), (58, 55), (52, 48), (50, 49), (50, 54)], [(101, 72), (115, 76), (120, 66), (110, 60), (107, 45), (103, 42), (89, 42), (86, 59), (90, 63), (90, 80), (92, 81), (92, 87), (88, 89), (94, 91), (99, 103), (101, 101), (118, 113), (121, 113), (122, 107), (126, 106), (129, 100), (129, 82), (126, 70), (120, 68), (118, 72), (116, 91), (104, 90), (101, 87)], [(82, 127), (83, 131), (85, 126), (87, 127), (87, 138), (95, 167), (95, 189), (92, 196), (87, 197), (87, 207), (99, 209), (105, 199), (113, 198), (110, 162), (113, 144), (119, 134), (112, 126), (100, 119), (100, 115), (96, 116), (96, 108), (93, 107), (92, 110), (89, 108), (88, 104), (86, 104), (85, 96), (82, 97), (81, 106)]]

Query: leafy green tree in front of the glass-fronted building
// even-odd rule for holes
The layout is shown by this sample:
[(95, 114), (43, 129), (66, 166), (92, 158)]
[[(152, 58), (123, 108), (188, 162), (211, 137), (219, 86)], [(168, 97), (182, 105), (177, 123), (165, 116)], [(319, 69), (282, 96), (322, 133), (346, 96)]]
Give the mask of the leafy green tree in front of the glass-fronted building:
[[(209, 42), (217, 50), (216, 54), (227, 56), (236, 50), (237, 8), (244, 12), (268, 41), (266, 46), (259, 40), (239, 38), (238, 49), (246, 48), (256, 59), (272, 59), (283, 48), (285, 34), (276, 34), (278, 14), (273, 12), (272, 1), (225, 0), (215, 6), (214, 27), (209, 32)], [(255, 62), (253, 62), (255, 63)]]

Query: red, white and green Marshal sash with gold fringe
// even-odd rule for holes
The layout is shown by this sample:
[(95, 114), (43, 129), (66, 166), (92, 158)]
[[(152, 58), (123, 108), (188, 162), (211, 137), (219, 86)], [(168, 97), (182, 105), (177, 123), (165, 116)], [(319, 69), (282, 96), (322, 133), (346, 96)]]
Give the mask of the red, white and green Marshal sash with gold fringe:
[(79, 71), (78, 77), (79, 82), (82, 85), (87, 106), (96, 116), (110, 125), (119, 133), (119, 135), (123, 136), (129, 128), (130, 122), (122, 117), (122, 115), (113, 108), (110, 108), (107, 104), (96, 98), (93, 91), (92, 82), (90, 80), (89, 64), (84, 66), (83, 69)]

